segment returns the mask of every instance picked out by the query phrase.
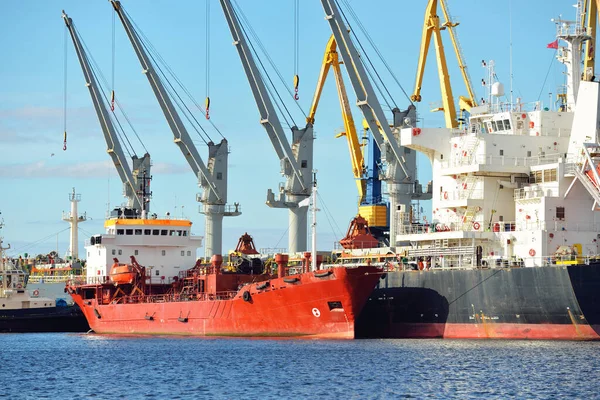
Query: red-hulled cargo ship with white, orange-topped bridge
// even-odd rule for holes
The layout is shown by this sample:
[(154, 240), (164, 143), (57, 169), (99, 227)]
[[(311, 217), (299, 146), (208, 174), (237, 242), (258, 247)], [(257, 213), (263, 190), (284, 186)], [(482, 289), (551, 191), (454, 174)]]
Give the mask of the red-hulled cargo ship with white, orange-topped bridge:
[[(113, 218), (106, 227), (86, 246), (86, 280), (66, 287), (96, 333), (353, 339), (382, 276), (367, 265), (311, 270), (311, 252), (300, 266), (285, 254), (265, 259), (247, 234), (227, 260), (184, 269), (201, 244), (189, 220)], [(138, 255), (120, 263), (117, 252)]]

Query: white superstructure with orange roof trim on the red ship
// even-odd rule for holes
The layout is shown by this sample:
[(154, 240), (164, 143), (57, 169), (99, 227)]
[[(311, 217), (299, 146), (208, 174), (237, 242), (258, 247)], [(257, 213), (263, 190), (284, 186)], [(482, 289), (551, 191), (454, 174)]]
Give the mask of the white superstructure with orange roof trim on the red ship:
[(152, 283), (172, 282), (196, 263), (196, 251), (202, 246), (202, 236), (192, 235), (191, 226), (190, 220), (171, 216), (124, 218), (121, 214), (107, 219), (106, 233), (86, 242), (88, 282), (106, 279), (115, 258), (130, 263), (130, 256), (149, 270)]

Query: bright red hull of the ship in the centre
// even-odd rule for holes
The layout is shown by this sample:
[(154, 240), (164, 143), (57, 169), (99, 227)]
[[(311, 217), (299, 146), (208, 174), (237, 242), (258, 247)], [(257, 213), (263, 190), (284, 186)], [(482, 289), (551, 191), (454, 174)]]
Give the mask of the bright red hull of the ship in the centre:
[[(258, 290), (259, 282), (243, 287), (228, 300), (98, 304), (95, 298), (83, 299), (82, 290), (71, 296), (97, 333), (353, 339), (356, 316), (379, 280), (380, 270), (331, 271), (325, 277), (295, 275), (298, 281), (292, 283), (271, 279), (264, 290)], [(94, 286), (79, 289), (85, 287)], [(243, 299), (246, 290), (250, 301)], [(330, 302), (341, 303), (341, 308), (330, 309)]]

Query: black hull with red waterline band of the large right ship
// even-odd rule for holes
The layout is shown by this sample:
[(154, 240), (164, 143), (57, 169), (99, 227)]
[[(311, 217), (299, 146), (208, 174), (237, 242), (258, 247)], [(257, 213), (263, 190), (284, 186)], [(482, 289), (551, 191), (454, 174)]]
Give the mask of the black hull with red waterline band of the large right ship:
[(600, 263), (388, 272), (362, 338), (600, 339)]

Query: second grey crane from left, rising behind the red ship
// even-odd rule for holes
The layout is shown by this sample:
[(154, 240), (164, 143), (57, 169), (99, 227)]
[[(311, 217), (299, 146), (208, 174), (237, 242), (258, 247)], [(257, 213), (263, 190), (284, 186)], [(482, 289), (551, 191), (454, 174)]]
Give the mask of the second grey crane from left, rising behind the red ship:
[(201, 196), (198, 196), (198, 200), (203, 203), (201, 212), (206, 215), (205, 256), (220, 255), (222, 254), (223, 246), (223, 217), (238, 216), (241, 214), (238, 203), (235, 204), (234, 208), (227, 206), (227, 158), (229, 154), (227, 140), (223, 139), (219, 144), (215, 144), (212, 141), (208, 143), (207, 167), (192, 142), (185, 125), (181, 121), (179, 113), (175, 109), (157, 70), (148, 57), (137, 31), (124, 12), (121, 2), (111, 0), (111, 3), (123, 23), (125, 32), (138, 56), (142, 65), (142, 72), (148, 78), (152, 91), (169, 123), (169, 127), (175, 137), (175, 144), (177, 144), (183, 153), (192, 171), (198, 178), (199, 185), (203, 189), (203, 193)]

